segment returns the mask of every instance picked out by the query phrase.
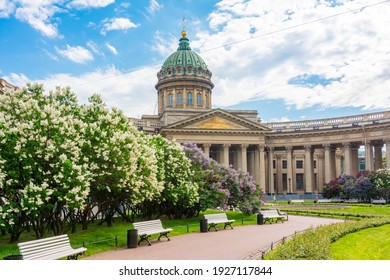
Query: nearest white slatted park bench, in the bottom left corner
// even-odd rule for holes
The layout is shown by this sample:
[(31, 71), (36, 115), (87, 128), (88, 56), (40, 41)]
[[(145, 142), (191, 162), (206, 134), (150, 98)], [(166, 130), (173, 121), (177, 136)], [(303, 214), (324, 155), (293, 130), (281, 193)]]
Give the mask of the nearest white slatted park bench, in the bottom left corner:
[(73, 249), (67, 234), (18, 243), (23, 260), (56, 260), (67, 257), (77, 260), (87, 250), (81, 247)]

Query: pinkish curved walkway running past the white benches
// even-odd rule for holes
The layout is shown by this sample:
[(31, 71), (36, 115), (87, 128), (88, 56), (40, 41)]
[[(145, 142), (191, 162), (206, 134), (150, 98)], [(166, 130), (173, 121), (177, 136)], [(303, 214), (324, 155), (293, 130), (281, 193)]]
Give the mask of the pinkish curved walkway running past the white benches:
[(289, 216), (289, 220), (284, 223), (189, 233), (172, 236), (171, 241), (162, 237), (160, 241), (152, 240), (152, 246), (142, 242), (137, 248), (119, 248), (83, 260), (242, 260), (296, 231), (340, 221), (342, 220)]

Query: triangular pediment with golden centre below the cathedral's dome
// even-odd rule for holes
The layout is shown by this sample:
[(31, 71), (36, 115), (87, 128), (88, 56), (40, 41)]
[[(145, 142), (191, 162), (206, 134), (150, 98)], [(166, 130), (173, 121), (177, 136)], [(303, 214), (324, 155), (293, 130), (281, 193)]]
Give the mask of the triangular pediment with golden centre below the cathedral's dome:
[(232, 114), (228, 111), (215, 109), (171, 124), (167, 129), (189, 130), (225, 130), (225, 131), (269, 131), (269, 128)]

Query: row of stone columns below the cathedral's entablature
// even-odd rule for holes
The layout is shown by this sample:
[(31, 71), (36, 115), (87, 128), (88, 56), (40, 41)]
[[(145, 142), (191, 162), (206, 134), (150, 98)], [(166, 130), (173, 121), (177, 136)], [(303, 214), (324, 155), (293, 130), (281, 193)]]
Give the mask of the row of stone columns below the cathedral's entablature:
[[(365, 146), (365, 167), (359, 167), (358, 150)], [(390, 139), (365, 143), (271, 146), (267, 144), (198, 144), (204, 153), (226, 166), (249, 172), (266, 193), (318, 193), (341, 174), (355, 176), (360, 169), (390, 167)]]

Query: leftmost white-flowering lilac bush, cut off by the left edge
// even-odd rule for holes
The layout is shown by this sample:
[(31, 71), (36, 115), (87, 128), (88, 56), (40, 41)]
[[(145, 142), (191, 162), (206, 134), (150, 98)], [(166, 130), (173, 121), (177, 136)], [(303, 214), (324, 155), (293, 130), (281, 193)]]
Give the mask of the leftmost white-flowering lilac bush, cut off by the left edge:
[(75, 102), (69, 89), (44, 95), (41, 85), (0, 96), (0, 225), (11, 240), (26, 224), (40, 238), (85, 204), (91, 174)]

